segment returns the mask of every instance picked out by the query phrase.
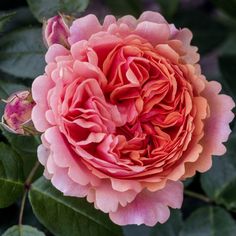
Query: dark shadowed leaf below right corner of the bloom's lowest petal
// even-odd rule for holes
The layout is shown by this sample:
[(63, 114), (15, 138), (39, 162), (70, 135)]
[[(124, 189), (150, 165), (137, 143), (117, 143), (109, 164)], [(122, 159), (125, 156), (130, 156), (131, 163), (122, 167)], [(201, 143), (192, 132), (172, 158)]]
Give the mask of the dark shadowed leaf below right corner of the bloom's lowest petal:
[(180, 210), (172, 210), (170, 218), (165, 224), (157, 224), (151, 231), (151, 236), (176, 236), (183, 226)]

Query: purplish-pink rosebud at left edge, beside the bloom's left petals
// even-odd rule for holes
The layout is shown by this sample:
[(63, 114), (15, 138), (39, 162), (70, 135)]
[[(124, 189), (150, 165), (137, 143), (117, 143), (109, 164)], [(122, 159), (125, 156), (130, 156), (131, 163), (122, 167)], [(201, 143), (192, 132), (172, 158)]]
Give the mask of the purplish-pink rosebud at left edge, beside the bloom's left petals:
[(35, 105), (29, 91), (19, 91), (5, 100), (6, 106), (2, 116), (2, 126), (15, 134), (36, 134), (31, 112)]

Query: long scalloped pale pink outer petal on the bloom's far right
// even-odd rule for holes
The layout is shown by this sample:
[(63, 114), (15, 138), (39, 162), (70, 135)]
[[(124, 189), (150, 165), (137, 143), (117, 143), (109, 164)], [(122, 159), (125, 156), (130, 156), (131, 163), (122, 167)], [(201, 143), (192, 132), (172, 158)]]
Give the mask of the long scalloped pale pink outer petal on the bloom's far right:
[(202, 95), (207, 99), (210, 108), (210, 117), (205, 121), (204, 137), (201, 141), (203, 152), (194, 163), (186, 164), (184, 177), (195, 174), (195, 171), (207, 171), (212, 165), (212, 155), (223, 155), (226, 152), (222, 142), (226, 142), (231, 132), (229, 123), (234, 114), (231, 111), (235, 103), (232, 98), (218, 94), (221, 85), (216, 81), (207, 82)]

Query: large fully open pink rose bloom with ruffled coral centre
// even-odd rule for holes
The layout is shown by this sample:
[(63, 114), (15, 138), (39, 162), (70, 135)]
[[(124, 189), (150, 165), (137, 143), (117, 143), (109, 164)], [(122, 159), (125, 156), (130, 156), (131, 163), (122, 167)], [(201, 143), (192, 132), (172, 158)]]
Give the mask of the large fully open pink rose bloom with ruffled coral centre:
[(180, 180), (223, 155), (233, 100), (201, 74), (188, 29), (156, 12), (75, 20), (33, 83), (44, 175), (119, 225), (164, 223)]

